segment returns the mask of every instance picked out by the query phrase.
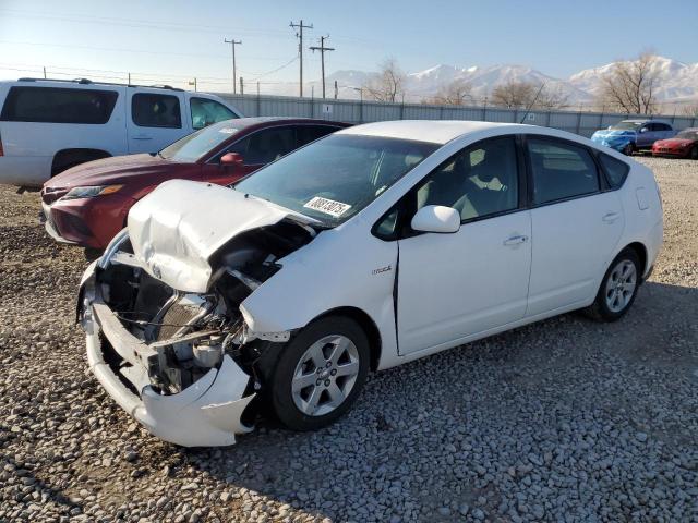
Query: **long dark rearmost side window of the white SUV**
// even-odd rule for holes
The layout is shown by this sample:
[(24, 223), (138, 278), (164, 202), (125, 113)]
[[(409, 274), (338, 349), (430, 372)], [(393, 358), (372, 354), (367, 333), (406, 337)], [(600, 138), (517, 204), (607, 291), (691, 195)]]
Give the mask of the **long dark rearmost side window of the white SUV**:
[(104, 124), (109, 121), (118, 97), (116, 90), (11, 87), (0, 120)]

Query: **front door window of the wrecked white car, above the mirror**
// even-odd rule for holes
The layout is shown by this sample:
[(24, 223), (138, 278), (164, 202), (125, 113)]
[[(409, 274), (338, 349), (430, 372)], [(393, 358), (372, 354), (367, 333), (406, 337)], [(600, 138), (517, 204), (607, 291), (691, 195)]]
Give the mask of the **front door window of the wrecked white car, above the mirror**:
[(417, 210), (426, 205), (453, 207), (464, 221), (517, 208), (514, 137), (483, 142), (442, 163), (417, 191)]

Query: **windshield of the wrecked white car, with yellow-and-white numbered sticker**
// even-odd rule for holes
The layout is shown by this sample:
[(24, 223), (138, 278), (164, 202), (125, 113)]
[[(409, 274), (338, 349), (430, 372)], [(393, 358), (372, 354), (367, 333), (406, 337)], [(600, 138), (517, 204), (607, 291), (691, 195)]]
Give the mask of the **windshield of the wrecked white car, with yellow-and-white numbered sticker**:
[(234, 188), (334, 227), (363, 209), (438, 147), (335, 134), (256, 171)]

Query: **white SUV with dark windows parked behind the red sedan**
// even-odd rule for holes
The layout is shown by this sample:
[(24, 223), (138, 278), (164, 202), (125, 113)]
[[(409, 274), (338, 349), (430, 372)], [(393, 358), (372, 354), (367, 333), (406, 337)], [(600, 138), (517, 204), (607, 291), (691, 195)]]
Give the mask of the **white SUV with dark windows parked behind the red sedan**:
[(0, 82), (0, 183), (21, 186), (86, 161), (156, 153), (241, 117), (209, 94), (88, 80)]

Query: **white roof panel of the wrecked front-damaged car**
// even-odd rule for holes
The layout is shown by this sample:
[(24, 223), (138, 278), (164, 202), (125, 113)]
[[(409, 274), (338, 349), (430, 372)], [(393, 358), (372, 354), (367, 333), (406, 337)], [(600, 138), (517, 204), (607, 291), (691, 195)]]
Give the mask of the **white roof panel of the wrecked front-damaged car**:
[(364, 123), (338, 131), (338, 134), (353, 134), (363, 136), (381, 136), (386, 138), (414, 139), (446, 144), (454, 138), (486, 131), (490, 129), (509, 127), (516, 132), (518, 127), (524, 132), (531, 125), (519, 123), (473, 122), (467, 120), (397, 120), (392, 122)]

